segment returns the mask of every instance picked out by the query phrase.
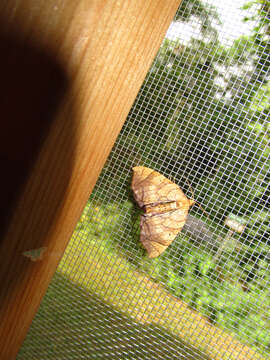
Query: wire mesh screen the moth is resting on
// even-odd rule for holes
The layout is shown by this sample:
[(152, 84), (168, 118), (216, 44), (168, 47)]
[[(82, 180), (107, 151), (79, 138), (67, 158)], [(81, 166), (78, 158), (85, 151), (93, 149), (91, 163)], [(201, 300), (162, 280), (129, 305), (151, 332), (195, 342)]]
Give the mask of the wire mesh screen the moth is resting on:
[[(18, 359), (270, 357), (269, 17), (182, 1)], [(200, 204), (155, 258), (134, 166)]]

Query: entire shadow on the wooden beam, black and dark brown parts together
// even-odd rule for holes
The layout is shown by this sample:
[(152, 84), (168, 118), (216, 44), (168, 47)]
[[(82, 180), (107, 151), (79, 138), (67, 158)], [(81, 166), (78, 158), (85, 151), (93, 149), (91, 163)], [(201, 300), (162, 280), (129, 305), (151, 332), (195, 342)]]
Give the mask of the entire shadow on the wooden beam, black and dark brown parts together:
[[(66, 197), (76, 146), (75, 105), (67, 100), (71, 84), (65, 67), (48, 48), (32, 43), (14, 19), (7, 21), (0, 16), (1, 304), (10, 302), (13, 289), (38, 265), (24, 253), (47, 246)], [(59, 116), (65, 103), (67, 116), (63, 110)], [(49, 146), (36, 183), (21, 204), (28, 214), (18, 211), (22, 219), (16, 228), (14, 213), (45, 140)]]

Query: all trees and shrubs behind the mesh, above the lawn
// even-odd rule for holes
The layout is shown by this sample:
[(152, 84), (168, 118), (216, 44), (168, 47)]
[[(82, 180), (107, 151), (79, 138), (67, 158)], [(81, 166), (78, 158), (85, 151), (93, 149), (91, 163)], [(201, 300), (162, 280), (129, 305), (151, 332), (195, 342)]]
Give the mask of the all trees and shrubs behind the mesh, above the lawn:
[[(182, 1), (174, 22), (195, 21), (199, 35), (163, 42), (90, 199), (98, 218), (93, 222), (90, 212), (78, 226), (96, 232), (210, 321), (265, 351), (270, 348), (270, 3), (250, 1), (242, 10), (252, 31), (228, 46), (220, 41), (214, 6)], [(140, 212), (130, 191), (135, 165), (169, 176), (190, 197), (188, 179), (209, 214), (192, 213), (166, 255), (151, 261), (139, 244)], [(224, 226), (231, 214), (246, 224), (242, 233)], [(100, 230), (92, 226), (95, 221)]]

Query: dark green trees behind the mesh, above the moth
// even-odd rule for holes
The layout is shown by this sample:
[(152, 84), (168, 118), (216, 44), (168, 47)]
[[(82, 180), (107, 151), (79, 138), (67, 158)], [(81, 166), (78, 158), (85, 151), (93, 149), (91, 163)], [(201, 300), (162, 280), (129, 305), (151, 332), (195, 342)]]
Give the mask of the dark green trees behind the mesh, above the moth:
[[(257, 20), (268, 29), (269, 9), (261, 4)], [(183, 2), (176, 20), (205, 17), (211, 24), (216, 17), (202, 6)], [(231, 212), (245, 216), (243, 239), (252, 242), (255, 209), (269, 207), (270, 196), (269, 44), (258, 29), (230, 48), (217, 36), (188, 44), (166, 39), (108, 162), (117, 154), (117, 184), (134, 164), (181, 175), (174, 180), (186, 192), (185, 179), (191, 181), (196, 200), (216, 223)]]

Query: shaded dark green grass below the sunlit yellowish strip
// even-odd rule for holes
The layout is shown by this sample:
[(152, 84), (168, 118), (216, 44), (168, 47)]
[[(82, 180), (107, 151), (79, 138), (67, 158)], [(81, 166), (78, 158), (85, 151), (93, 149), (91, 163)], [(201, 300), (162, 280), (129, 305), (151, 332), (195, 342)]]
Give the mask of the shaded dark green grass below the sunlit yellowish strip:
[(31, 358), (210, 360), (166, 329), (135, 322), (59, 273), (17, 360)]

